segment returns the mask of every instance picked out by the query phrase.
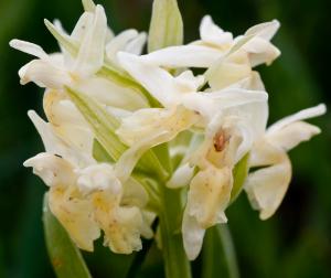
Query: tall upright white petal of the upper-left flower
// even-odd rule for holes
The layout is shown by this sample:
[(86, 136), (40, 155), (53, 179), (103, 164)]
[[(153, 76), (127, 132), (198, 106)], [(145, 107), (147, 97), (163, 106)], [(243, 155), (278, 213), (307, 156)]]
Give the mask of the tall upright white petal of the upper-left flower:
[(74, 72), (85, 77), (96, 73), (104, 64), (107, 18), (102, 6), (97, 6), (94, 20), (82, 41)]

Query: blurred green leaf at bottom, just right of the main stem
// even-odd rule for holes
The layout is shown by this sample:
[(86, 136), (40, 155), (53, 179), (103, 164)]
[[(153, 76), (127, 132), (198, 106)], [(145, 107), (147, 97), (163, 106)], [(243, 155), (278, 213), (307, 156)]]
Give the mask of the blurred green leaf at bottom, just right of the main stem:
[(227, 225), (217, 225), (206, 231), (203, 245), (203, 278), (238, 278), (236, 254)]

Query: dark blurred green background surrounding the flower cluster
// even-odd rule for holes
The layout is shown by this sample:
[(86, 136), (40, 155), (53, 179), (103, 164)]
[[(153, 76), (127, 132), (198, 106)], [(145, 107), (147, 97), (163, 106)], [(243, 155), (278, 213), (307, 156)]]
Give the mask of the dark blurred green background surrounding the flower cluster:
[[(99, 2), (116, 32), (148, 30), (152, 0)], [(261, 21), (281, 22), (274, 42), (282, 55), (271, 67), (259, 67), (270, 96), (270, 122), (321, 101), (330, 104), (330, 0), (182, 0), (179, 4), (186, 41), (197, 38), (206, 13), (234, 34)], [(79, 0), (0, 0), (0, 277), (54, 277), (41, 222), (46, 188), (22, 167), (43, 149), (26, 117), (28, 109), (42, 114), (42, 90), (33, 84), (19, 85), (17, 72), (31, 57), (11, 50), (8, 42), (18, 38), (54, 52), (57, 46), (43, 19), (58, 18), (72, 30), (82, 11)], [(331, 277), (330, 114), (312, 122), (323, 133), (290, 153), (293, 179), (277, 214), (259, 221), (244, 194), (228, 210), (242, 277)], [(141, 277), (162, 277), (160, 254), (153, 252)], [(118, 271), (131, 259), (114, 257), (100, 247), (86, 256), (94, 277), (120, 277)]]

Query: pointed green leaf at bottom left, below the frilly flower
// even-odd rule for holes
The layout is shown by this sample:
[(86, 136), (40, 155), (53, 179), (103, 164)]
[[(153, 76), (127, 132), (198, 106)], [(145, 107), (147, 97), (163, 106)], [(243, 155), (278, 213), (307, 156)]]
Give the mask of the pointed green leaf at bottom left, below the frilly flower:
[(90, 278), (83, 256), (66, 231), (54, 217), (44, 196), (43, 223), (49, 255), (58, 278)]

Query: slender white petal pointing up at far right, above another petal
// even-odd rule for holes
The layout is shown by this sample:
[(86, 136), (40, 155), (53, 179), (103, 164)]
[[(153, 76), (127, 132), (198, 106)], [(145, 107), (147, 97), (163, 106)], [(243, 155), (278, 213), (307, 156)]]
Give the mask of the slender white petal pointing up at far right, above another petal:
[(303, 109), (299, 113), (296, 113), (291, 116), (288, 116), (281, 120), (275, 122), (273, 126), (270, 126), (268, 128), (267, 133), (271, 135), (295, 121), (318, 117), (318, 116), (325, 114), (325, 111), (327, 111), (327, 107), (324, 104), (320, 104), (318, 106)]

